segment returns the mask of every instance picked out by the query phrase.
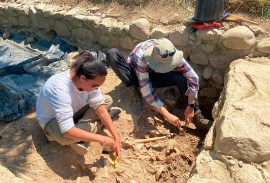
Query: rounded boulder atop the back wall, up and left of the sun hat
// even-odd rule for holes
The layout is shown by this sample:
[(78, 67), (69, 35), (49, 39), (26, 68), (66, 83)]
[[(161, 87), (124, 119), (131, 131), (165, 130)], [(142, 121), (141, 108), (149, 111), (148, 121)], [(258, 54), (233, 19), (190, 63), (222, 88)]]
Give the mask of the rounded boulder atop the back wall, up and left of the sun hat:
[(148, 20), (140, 18), (133, 21), (129, 27), (129, 33), (134, 38), (146, 40), (150, 34)]

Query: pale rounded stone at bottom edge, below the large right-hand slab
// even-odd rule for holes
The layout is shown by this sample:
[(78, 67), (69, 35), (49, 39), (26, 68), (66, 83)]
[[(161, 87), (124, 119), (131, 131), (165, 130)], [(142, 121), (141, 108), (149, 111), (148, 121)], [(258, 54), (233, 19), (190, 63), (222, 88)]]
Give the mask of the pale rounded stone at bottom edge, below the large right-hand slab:
[(235, 183), (265, 183), (261, 173), (252, 165), (244, 164), (234, 175)]

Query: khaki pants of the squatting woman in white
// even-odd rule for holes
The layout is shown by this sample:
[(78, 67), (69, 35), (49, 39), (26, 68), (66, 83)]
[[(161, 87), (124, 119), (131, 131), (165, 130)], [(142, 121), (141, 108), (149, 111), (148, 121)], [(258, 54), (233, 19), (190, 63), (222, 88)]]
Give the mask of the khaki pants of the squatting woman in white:
[[(103, 97), (105, 101), (105, 107), (107, 111), (109, 111), (112, 105), (112, 99), (108, 95), (104, 95)], [(73, 115), (73, 120), (77, 128), (90, 133), (97, 133), (101, 127), (103, 127), (103, 124), (99, 120), (94, 109), (91, 108), (88, 104)], [(76, 123), (76, 121), (78, 122)], [(60, 131), (56, 118), (50, 120), (46, 124), (44, 134), (47, 136), (49, 141), (56, 141), (62, 146), (78, 142), (78, 140), (64, 137)]]

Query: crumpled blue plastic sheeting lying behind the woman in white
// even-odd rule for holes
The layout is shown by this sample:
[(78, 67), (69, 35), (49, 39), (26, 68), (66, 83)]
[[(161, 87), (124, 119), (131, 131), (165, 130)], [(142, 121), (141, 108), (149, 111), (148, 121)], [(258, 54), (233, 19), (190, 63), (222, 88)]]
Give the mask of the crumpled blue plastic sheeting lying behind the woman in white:
[[(2, 35), (2, 33), (0, 33)], [(36, 108), (42, 85), (55, 73), (68, 69), (66, 60), (75, 49), (56, 37), (54, 43), (26, 36), (0, 37), (0, 120), (11, 121)]]

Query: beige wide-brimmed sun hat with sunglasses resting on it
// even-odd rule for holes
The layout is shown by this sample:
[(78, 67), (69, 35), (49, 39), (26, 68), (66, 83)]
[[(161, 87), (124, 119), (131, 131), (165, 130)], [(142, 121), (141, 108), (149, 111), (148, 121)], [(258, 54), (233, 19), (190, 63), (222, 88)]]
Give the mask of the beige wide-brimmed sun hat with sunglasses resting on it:
[(183, 59), (183, 52), (177, 50), (171, 41), (162, 38), (144, 50), (144, 59), (155, 71), (166, 73), (179, 66)]

